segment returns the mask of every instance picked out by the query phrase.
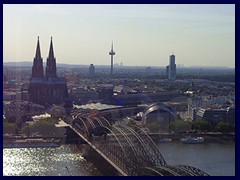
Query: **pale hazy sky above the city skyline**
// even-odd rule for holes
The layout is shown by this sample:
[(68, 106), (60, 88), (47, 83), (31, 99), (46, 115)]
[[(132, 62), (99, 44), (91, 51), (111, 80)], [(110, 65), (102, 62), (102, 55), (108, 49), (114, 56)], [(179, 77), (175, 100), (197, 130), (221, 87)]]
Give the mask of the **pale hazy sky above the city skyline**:
[(50, 37), (57, 63), (235, 67), (235, 5), (3, 5), (3, 61), (44, 62)]

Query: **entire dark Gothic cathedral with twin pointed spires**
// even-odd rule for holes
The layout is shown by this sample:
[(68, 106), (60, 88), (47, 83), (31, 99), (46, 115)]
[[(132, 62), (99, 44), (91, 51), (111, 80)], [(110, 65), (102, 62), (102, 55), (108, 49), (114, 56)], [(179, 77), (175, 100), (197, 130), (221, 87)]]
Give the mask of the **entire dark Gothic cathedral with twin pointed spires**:
[(64, 103), (64, 99), (68, 97), (65, 78), (57, 77), (56, 58), (54, 57), (52, 37), (46, 62), (45, 76), (38, 37), (28, 93), (29, 101), (44, 106), (62, 104)]

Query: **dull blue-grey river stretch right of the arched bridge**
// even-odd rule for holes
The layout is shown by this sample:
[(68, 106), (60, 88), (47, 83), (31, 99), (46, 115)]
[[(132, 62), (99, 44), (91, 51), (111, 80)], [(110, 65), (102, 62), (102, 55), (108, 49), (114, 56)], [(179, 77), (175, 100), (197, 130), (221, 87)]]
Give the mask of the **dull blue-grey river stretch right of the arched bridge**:
[(211, 176), (235, 175), (235, 143), (161, 143), (158, 148), (168, 165), (190, 165)]

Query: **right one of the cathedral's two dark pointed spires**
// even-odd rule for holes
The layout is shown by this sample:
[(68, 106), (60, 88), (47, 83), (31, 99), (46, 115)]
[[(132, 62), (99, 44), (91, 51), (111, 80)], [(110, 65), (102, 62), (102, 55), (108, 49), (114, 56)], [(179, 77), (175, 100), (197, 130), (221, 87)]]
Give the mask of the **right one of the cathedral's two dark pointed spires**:
[(56, 58), (54, 57), (52, 37), (50, 42), (49, 55), (46, 64), (46, 77), (54, 78), (57, 77)]

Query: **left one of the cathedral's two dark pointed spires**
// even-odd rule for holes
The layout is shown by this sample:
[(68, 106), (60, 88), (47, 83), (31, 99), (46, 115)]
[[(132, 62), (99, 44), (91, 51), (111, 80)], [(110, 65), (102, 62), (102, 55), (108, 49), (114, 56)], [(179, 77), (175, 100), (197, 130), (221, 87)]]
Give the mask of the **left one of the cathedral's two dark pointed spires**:
[(32, 78), (43, 78), (43, 60), (41, 57), (39, 37), (37, 41), (36, 55), (33, 59)]

